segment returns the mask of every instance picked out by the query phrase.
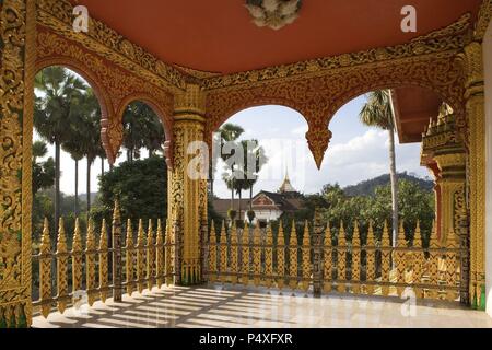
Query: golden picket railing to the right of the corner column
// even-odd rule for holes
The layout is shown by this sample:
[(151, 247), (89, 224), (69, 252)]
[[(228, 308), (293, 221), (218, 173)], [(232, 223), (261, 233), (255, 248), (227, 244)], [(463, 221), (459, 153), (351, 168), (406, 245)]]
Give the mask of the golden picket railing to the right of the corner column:
[[(466, 254), (450, 233), (443, 243), (433, 226), (430, 244), (422, 245), (419, 222), (411, 242), (406, 241), (401, 223), (396, 246), (388, 226), (376, 240), (373, 223), (363, 235), (355, 222), (350, 232), (343, 223), (338, 230), (305, 222), (303, 230), (291, 225), (289, 236), (280, 223), (245, 229), (222, 223), (220, 232), (211, 225), (206, 277), (210, 282), (245, 284), (365, 295), (402, 296), (459, 301), (460, 256)], [(335, 233), (332, 232), (335, 231)], [(350, 240), (349, 240), (350, 237)]]

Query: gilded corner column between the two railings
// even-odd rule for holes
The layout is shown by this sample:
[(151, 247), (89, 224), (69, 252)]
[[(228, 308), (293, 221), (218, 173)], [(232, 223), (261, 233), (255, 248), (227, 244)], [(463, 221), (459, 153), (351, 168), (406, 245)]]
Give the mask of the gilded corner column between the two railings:
[(174, 166), (169, 170), (168, 217), (178, 228), (179, 281), (195, 284), (201, 280), (201, 224), (207, 219), (207, 156), (195, 141), (204, 140), (206, 94), (189, 84), (175, 98)]

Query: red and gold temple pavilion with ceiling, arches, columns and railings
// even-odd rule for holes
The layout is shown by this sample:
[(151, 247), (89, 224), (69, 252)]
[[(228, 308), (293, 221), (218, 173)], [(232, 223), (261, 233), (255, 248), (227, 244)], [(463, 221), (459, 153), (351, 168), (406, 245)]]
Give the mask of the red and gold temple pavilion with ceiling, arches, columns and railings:
[[(491, 0), (0, 1), (0, 325), (207, 283), (316, 296), (411, 291), (469, 308), (464, 322), (492, 315), (491, 16)], [(75, 232), (70, 244), (72, 233), (43, 234), (33, 253), (34, 77), (49, 66), (93, 88), (110, 163), (128, 104), (160, 116), (166, 222), (131, 230), (116, 202), (107, 228)], [(330, 228), (318, 215), (303, 230), (209, 221), (207, 178), (187, 173), (191, 142), (211, 144), (242, 109), (282, 105), (305, 118), (320, 167), (337, 110), (382, 89), (398, 141), (421, 144), (435, 179), (429, 240), (419, 225), (390, 242), (384, 222)]]

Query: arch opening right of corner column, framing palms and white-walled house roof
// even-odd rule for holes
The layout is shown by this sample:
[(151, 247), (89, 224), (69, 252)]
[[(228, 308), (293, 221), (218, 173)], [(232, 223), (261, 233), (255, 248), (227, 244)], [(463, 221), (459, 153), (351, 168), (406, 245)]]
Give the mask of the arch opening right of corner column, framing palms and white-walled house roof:
[[(209, 180), (212, 219), (230, 220), (232, 210), (239, 225), (244, 221), (265, 225), (278, 220), (281, 211), (261, 207), (261, 202), (268, 201), (268, 194), (278, 190), (280, 197), (298, 203), (307, 180), (304, 164), (313, 164), (304, 116), (284, 105), (255, 105), (223, 120), (214, 131), (210, 166), (214, 176)], [(241, 152), (237, 159), (236, 152)], [(249, 218), (251, 212), (254, 217)]]

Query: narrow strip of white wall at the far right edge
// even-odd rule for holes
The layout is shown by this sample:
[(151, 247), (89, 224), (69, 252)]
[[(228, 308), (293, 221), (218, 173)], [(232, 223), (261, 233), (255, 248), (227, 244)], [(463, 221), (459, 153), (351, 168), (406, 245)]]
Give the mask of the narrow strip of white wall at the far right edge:
[(485, 70), (485, 284), (487, 312), (492, 317), (492, 23), (489, 24), (483, 45)]

